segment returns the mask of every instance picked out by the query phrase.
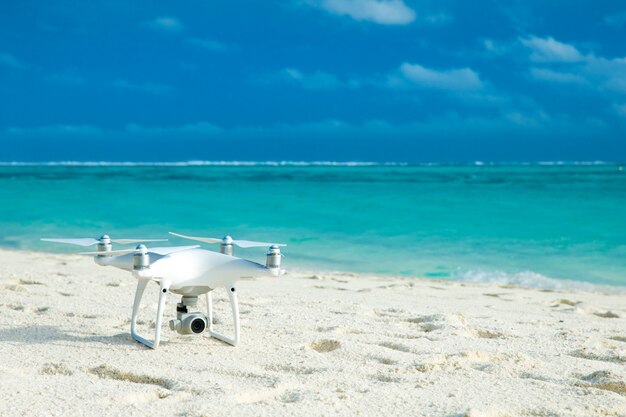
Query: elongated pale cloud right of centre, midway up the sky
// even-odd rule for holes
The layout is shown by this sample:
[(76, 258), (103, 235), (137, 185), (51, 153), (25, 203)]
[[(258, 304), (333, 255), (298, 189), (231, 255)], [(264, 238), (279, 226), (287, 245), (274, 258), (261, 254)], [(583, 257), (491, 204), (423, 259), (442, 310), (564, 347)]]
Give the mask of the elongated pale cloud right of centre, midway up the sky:
[(421, 88), (453, 92), (478, 91), (483, 88), (479, 75), (470, 68), (435, 70), (418, 64), (404, 63), (400, 66), (401, 80), (391, 78), (390, 82), (408, 81)]

